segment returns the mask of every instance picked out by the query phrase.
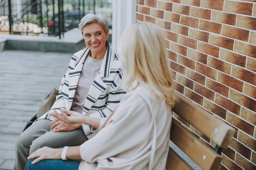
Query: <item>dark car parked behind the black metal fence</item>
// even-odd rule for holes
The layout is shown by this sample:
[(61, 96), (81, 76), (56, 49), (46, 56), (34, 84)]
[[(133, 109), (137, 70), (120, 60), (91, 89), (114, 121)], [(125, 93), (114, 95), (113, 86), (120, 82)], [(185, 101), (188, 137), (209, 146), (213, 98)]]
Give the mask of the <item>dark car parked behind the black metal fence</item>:
[[(93, 13), (93, 12), (85, 12), (86, 14)], [(61, 15), (62, 16), (62, 15)], [(84, 17), (83, 12), (64, 12), (64, 31), (69, 31), (73, 28), (78, 28), (79, 21)], [(61, 19), (62, 22), (62, 19)], [(55, 27), (55, 31), (54, 31)], [(112, 28), (112, 20), (108, 19), (108, 27), (111, 29)], [(51, 20), (48, 21), (48, 31), (49, 34), (52, 34), (54, 36), (58, 35), (58, 13), (54, 15), (54, 22), (53, 22), (53, 17)], [(53, 32), (54, 31), (54, 32)]]

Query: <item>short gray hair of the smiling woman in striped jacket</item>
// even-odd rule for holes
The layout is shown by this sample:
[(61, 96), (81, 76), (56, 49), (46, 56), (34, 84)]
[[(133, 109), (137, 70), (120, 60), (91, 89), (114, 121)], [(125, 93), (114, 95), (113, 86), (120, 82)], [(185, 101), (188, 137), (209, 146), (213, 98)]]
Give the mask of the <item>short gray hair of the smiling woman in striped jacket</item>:
[(104, 15), (87, 14), (80, 20), (80, 23), (78, 25), (79, 29), (81, 30), (81, 33), (83, 33), (84, 26), (87, 26), (92, 23), (98, 23), (99, 25), (102, 26), (105, 33), (108, 32), (108, 20)]

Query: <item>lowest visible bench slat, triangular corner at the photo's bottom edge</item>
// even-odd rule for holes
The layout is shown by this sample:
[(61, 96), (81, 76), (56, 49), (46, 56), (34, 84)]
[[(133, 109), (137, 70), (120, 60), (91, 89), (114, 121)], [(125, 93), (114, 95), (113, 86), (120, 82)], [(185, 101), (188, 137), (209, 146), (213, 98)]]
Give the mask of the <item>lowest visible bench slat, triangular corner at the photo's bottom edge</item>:
[(168, 158), (166, 161), (167, 170), (193, 170), (172, 148), (169, 148)]

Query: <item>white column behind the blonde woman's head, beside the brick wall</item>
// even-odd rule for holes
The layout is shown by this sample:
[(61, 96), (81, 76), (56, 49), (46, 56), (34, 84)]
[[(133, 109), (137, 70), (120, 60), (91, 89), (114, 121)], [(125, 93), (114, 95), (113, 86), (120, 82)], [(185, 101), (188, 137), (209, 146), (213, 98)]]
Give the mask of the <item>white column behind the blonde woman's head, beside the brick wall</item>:
[(116, 46), (122, 32), (136, 22), (136, 0), (113, 0), (112, 48)]

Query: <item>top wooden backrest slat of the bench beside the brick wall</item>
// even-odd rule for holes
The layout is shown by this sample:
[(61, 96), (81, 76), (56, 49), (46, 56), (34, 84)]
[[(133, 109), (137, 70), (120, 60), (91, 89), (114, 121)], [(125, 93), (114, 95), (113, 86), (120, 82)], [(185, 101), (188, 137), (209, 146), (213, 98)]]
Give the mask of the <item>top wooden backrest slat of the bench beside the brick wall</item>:
[(213, 117), (203, 108), (192, 103), (189, 99), (186, 99), (180, 94), (177, 94), (177, 96), (179, 96), (180, 100), (172, 108), (172, 111), (191, 123), (204, 133), (205, 136), (218, 144), (218, 146), (227, 149), (235, 130)]

